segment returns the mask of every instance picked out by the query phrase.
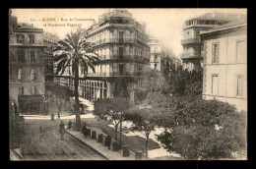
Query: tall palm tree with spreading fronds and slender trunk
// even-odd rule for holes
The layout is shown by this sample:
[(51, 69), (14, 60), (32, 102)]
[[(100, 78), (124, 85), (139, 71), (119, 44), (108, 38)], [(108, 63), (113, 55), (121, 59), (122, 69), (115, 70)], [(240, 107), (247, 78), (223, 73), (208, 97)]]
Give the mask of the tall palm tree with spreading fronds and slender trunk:
[(75, 78), (74, 110), (76, 114), (76, 130), (79, 130), (81, 127), (78, 93), (79, 68), (81, 68), (81, 73), (86, 77), (89, 68), (91, 68), (94, 73), (96, 72), (95, 66), (99, 61), (92, 45), (93, 44), (87, 42), (86, 38), (82, 37), (80, 31), (78, 31), (75, 33), (67, 33), (64, 40), (58, 41), (58, 46), (53, 50), (53, 61), (57, 64), (56, 75), (58, 75), (60, 71), (62, 75), (66, 68), (71, 67), (72, 75), (74, 75)]

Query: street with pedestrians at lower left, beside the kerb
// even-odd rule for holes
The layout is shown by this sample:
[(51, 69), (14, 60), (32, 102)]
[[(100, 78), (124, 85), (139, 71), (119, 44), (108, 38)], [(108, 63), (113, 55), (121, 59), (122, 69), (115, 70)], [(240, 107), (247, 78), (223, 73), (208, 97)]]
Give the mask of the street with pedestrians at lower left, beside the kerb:
[[(24, 160), (105, 160), (68, 134), (62, 141), (58, 132), (59, 124), (60, 121), (25, 120), (22, 142)], [(44, 129), (42, 141), (38, 141), (40, 126)]]

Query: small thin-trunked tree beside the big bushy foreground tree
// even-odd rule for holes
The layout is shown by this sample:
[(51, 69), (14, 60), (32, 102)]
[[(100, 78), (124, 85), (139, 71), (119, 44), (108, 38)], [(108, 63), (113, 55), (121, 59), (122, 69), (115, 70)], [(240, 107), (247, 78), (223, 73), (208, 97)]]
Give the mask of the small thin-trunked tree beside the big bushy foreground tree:
[(157, 117), (159, 117), (160, 111), (157, 109), (149, 108), (137, 108), (133, 107), (128, 110), (125, 114), (126, 121), (132, 121), (134, 124), (133, 130), (144, 132), (146, 136), (145, 141), (145, 151), (146, 158), (148, 158), (148, 142), (150, 139), (150, 134), (155, 130), (158, 125)]

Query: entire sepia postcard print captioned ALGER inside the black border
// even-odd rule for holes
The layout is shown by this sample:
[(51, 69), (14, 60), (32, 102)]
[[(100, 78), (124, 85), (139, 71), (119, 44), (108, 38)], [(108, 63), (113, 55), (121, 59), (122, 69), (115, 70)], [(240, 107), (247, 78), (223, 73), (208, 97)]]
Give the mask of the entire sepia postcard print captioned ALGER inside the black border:
[(10, 8), (10, 161), (247, 160), (246, 8)]

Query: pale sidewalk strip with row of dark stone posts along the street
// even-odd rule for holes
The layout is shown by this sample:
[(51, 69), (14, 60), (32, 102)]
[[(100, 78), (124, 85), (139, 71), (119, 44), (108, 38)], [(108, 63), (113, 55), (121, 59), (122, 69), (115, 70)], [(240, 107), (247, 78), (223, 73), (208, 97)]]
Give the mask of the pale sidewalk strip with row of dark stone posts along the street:
[[(91, 131), (96, 131), (96, 137), (97, 134), (103, 134), (100, 129), (96, 127), (90, 127)], [(123, 150), (120, 149), (119, 151), (113, 151), (113, 147), (111, 144), (110, 149), (108, 149), (107, 146), (103, 145), (103, 142), (97, 142), (96, 140), (92, 140), (91, 138), (84, 139), (84, 135), (81, 132), (73, 131), (73, 130), (66, 130), (66, 132), (75, 137), (76, 139), (83, 141), (87, 145), (91, 146), (93, 149), (95, 149), (98, 153), (103, 155), (105, 158), (109, 160), (135, 160), (135, 155), (133, 152), (130, 151), (130, 156), (123, 157)]]

